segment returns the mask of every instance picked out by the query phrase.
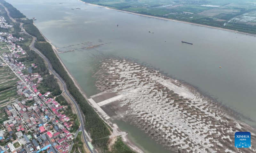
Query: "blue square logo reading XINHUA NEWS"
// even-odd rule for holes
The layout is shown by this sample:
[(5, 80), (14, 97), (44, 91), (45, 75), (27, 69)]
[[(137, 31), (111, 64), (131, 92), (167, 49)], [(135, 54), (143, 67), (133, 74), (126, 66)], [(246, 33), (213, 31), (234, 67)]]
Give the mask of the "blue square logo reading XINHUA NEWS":
[(251, 147), (251, 133), (250, 132), (236, 132), (235, 133), (235, 147), (236, 148), (250, 148)]

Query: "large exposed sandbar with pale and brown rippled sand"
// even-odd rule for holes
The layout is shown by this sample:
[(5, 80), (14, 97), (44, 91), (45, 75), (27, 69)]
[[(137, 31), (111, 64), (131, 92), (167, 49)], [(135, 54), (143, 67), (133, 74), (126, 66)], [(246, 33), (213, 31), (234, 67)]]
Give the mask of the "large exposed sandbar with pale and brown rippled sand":
[[(157, 143), (179, 152), (254, 152), (237, 149), (236, 131), (251, 131), (225, 107), (195, 88), (127, 60), (101, 61), (95, 73), (100, 90), (115, 89), (119, 99), (116, 118), (144, 130)], [(252, 133), (252, 132), (251, 132)], [(255, 135), (252, 133), (252, 145)], [(255, 146), (255, 145), (254, 145)]]

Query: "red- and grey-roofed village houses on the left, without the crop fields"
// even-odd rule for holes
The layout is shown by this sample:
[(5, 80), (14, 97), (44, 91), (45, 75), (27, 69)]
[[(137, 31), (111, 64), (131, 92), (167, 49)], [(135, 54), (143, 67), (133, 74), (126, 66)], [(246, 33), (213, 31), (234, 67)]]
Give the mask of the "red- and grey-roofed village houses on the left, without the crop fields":
[[(2, 18), (1, 18), (2, 19)], [(65, 106), (49, 98), (51, 93), (44, 94), (38, 90), (38, 84), (42, 77), (38, 73), (29, 72), (23, 74), (27, 69), (22, 62), (18, 62), (19, 54), (23, 54), (23, 49), (15, 44), (15, 41), (23, 38), (12, 37), (11, 34), (0, 33), (1, 40), (6, 35), (11, 47), (11, 53), (2, 53), (4, 62), (9, 65), (20, 77), (17, 82), (17, 93), (22, 98), (4, 107), (8, 117), (0, 129), (0, 142), (6, 142), (4, 149), (0, 147), (0, 152), (11, 153), (68, 153), (72, 143), (73, 134), (69, 132), (73, 123), (64, 114)], [(19, 53), (19, 54), (18, 54)], [(36, 64), (31, 67), (36, 69)]]

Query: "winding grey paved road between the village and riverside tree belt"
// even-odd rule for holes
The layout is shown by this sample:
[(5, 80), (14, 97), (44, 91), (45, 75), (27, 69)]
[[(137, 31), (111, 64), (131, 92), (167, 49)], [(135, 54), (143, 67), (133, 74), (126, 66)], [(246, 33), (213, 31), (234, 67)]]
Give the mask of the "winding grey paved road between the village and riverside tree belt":
[[(54, 74), (58, 79), (60, 79), (61, 83), (63, 84), (64, 91), (66, 92), (66, 94), (68, 95), (68, 97), (72, 100), (72, 102), (75, 104), (76, 110), (77, 110), (77, 112), (78, 112), (79, 119), (80, 119), (80, 122), (81, 122), (81, 127), (80, 127), (80, 128), (81, 128), (81, 131), (83, 132), (84, 142), (85, 142), (87, 148), (90, 150), (90, 152), (93, 153), (93, 150), (91, 150), (91, 148), (90, 148), (89, 145), (88, 145), (88, 141), (87, 141), (88, 139), (87, 139), (87, 137), (86, 137), (86, 135), (85, 135), (84, 122), (83, 122), (83, 118), (82, 118), (82, 115), (81, 115), (82, 113), (80, 112), (80, 109), (79, 109), (79, 107), (78, 107), (78, 104), (76, 103), (76, 101), (75, 101), (75, 100), (69, 95), (69, 93), (67, 92), (66, 84), (64, 83), (64, 81), (62, 80), (62, 78), (59, 76), (59, 74), (56, 73), (56, 72), (52, 69), (52, 65), (51, 65), (51, 63), (49, 62), (49, 60), (48, 60), (38, 49), (35, 48), (34, 43), (35, 43), (35, 41), (36, 41), (36, 37), (34, 37), (34, 36), (28, 34), (28, 33), (23, 29), (23, 26), (22, 26), (22, 25), (23, 25), (23, 23), (21, 23), (21, 25), (20, 25), (21, 31), (23, 31), (25, 34), (27, 34), (27, 35), (29, 35), (29, 36), (31, 36), (31, 37), (33, 38), (31, 44), (29, 45), (30, 49), (36, 51), (36, 53), (38, 53), (42, 58), (44, 58), (44, 60), (45, 60), (45, 61), (47, 62), (47, 64), (48, 64), (48, 68), (50, 69), (50, 71), (52, 71), (52, 74)], [(80, 129), (80, 128), (79, 128), (79, 129)], [(71, 149), (70, 149), (70, 150), (71, 150)]]

